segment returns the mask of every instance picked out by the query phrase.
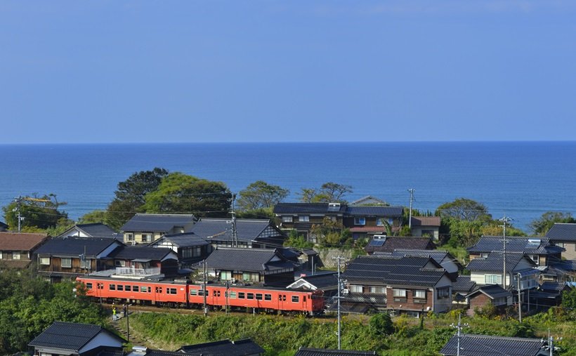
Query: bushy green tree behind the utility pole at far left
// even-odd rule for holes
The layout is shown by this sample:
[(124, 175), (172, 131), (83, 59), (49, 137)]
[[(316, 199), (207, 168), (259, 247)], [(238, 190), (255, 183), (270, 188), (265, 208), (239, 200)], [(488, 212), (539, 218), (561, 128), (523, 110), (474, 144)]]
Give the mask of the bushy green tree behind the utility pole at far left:
[(58, 202), (56, 195), (38, 195), (34, 193), (32, 197), (22, 197), (18, 201), (11, 202), (4, 206), (4, 220), (11, 228), (18, 227), (18, 210), (21, 221), (22, 231), (39, 231), (53, 228), (58, 225), (62, 219), (66, 220), (68, 214), (60, 211), (60, 206), (66, 205), (65, 202)]

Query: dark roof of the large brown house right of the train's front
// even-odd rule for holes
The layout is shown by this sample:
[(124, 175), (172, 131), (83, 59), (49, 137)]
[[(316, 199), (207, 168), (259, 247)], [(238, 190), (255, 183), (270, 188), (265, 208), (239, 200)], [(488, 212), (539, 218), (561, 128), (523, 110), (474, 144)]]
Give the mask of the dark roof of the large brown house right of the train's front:
[[(433, 268), (426, 268), (426, 265)], [(407, 256), (402, 258), (361, 256), (355, 258), (343, 272), (348, 282), (375, 282), (407, 286), (434, 286), (447, 275), (432, 258)]]

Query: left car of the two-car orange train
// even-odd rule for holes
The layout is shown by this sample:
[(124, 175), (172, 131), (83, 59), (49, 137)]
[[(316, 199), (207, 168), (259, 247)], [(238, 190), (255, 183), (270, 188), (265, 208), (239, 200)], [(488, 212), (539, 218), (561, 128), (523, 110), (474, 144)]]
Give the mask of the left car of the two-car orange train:
[(188, 285), (176, 281), (82, 276), (86, 295), (105, 301), (188, 306)]

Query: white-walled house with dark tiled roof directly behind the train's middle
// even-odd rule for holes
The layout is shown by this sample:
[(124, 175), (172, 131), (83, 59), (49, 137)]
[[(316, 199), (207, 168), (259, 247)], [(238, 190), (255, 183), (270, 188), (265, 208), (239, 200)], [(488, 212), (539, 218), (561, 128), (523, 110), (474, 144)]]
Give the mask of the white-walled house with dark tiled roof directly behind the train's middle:
[(209, 276), (219, 282), (266, 286), (291, 284), (296, 267), (275, 249), (218, 248), (210, 253), (205, 263)]

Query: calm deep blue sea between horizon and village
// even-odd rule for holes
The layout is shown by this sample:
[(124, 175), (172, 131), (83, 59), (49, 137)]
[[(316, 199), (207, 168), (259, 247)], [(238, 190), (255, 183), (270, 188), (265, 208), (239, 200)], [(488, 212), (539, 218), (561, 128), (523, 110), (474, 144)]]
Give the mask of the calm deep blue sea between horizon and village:
[[(561, 143), (214, 143), (0, 145), (0, 206), (54, 193), (70, 218), (104, 209), (119, 181), (155, 166), (224, 182), (301, 187), (334, 181), (393, 205), (433, 211), (457, 197), (506, 213), (526, 232), (545, 211), (576, 215), (576, 142)], [(3, 219), (1, 219), (3, 220)]]

